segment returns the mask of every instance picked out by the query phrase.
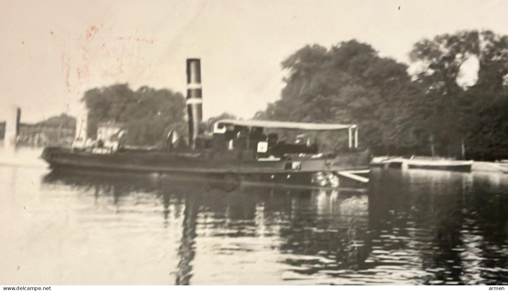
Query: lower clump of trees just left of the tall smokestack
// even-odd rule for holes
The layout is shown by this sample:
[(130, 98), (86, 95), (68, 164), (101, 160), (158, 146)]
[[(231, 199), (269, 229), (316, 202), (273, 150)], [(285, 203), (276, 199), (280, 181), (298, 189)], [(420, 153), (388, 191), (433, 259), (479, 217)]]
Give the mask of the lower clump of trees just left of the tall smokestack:
[(183, 95), (171, 90), (141, 87), (133, 91), (127, 84), (88, 90), (83, 101), (88, 108), (88, 136), (95, 138), (97, 125), (115, 122), (128, 131), (126, 144), (163, 145), (171, 129), (186, 135)]

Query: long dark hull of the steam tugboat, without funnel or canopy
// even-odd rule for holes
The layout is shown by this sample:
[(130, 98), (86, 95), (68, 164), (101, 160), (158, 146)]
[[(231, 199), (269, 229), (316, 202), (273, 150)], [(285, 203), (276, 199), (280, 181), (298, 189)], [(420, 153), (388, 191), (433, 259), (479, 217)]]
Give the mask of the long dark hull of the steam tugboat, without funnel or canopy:
[[(73, 152), (70, 149), (46, 148), (42, 158), (51, 168), (76, 168), (106, 172), (182, 173), (187, 175), (213, 175), (232, 180), (260, 183), (311, 185), (312, 176), (321, 171), (338, 171), (366, 167), (361, 154), (348, 154), (335, 159), (242, 161), (231, 155), (206, 153), (170, 154), (163, 151), (125, 151), (114, 154)], [(365, 161), (363, 161), (365, 160)], [(291, 167), (299, 162), (297, 169)]]

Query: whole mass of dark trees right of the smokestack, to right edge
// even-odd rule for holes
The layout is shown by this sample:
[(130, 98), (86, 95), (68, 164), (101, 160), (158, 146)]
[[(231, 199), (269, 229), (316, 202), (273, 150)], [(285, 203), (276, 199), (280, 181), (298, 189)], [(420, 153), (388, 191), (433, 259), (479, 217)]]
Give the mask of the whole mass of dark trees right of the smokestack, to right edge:
[[(380, 57), (355, 40), (327, 49), (305, 46), (282, 62), (289, 74), (281, 99), (257, 119), (355, 123), (374, 154), (505, 157), (508, 145), (508, 37), (459, 31), (422, 40), (410, 52), (421, 69)], [(478, 77), (459, 80), (467, 61)], [(476, 74), (476, 72), (474, 72)], [(345, 133), (342, 135), (346, 135)], [(345, 147), (339, 135), (328, 147)]]

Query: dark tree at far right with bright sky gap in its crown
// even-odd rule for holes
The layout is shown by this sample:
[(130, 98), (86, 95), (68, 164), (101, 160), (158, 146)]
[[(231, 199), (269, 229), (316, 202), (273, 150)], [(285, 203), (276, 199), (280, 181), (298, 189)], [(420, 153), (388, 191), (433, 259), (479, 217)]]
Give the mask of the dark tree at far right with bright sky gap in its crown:
[[(506, 98), (506, 35), (490, 30), (441, 34), (416, 43), (409, 55), (412, 63), (423, 67), (415, 78), (426, 92), (421, 106), (424, 123), (440, 144), (441, 154), (450, 155), (453, 144), (462, 143), (465, 150), (464, 142), (469, 144), (471, 157), (483, 156), (482, 149), (502, 147), (508, 136), (505, 131), (491, 128), (486, 120), (508, 118), (494, 108)], [(478, 62), (478, 75), (469, 84), (461, 84), (461, 69), (469, 60)], [(493, 144), (487, 145), (485, 140)]]

